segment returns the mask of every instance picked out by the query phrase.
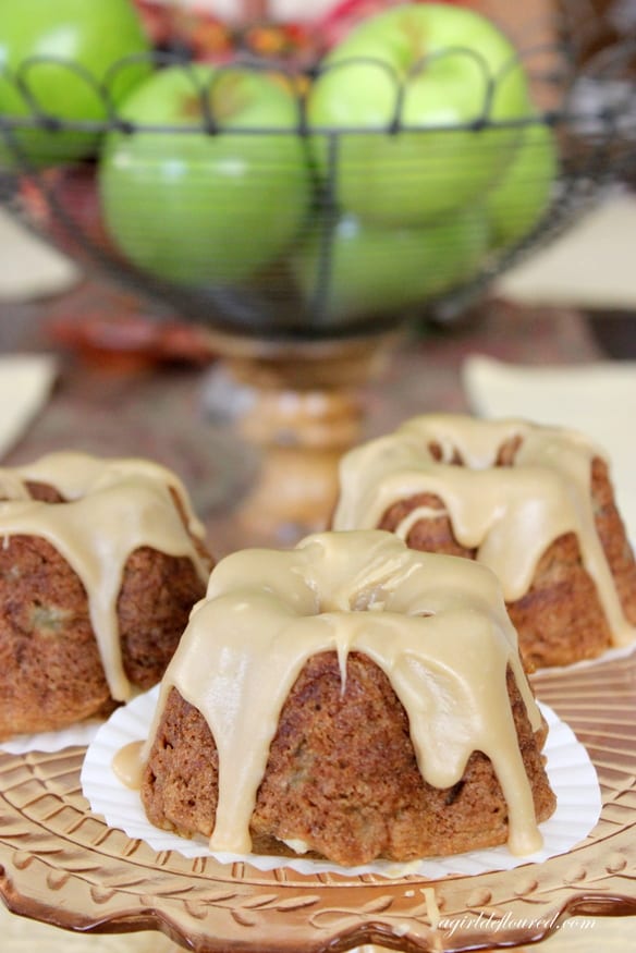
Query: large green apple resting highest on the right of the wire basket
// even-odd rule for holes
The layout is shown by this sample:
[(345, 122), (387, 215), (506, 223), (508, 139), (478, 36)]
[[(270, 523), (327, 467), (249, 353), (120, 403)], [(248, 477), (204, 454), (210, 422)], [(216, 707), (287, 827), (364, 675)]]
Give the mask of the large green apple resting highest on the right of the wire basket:
[(340, 207), (400, 225), (480, 196), (511, 161), (515, 121), (529, 110), (513, 46), (482, 15), (444, 3), (363, 21), (326, 57), (307, 99), (316, 161)]

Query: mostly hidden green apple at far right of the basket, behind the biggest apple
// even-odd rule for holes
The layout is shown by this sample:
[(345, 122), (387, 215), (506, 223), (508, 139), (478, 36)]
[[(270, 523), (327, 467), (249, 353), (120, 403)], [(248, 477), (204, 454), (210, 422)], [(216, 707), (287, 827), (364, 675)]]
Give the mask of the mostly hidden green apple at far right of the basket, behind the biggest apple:
[(550, 205), (558, 173), (554, 134), (537, 119), (524, 132), (512, 163), (486, 198), (493, 247), (515, 245), (538, 224)]

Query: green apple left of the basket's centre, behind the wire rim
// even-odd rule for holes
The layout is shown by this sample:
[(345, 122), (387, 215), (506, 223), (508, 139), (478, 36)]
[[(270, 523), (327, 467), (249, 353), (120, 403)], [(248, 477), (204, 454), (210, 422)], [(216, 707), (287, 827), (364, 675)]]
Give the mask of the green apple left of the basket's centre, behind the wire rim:
[(297, 109), (288, 81), (254, 70), (171, 66), (143, 84), (122, 114), (146, 129), (111, 134), (98, 173), (124, 256), (197, 286), (243, 281), (276, 258), (310, 199)]

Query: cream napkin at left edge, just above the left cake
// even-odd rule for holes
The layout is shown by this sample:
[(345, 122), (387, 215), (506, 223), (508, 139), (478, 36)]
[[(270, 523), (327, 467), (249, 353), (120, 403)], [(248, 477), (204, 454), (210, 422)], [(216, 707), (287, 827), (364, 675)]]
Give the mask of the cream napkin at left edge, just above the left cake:
[(0, 356), (0, 459), (46, 404), (57, 372), (50, 354)]

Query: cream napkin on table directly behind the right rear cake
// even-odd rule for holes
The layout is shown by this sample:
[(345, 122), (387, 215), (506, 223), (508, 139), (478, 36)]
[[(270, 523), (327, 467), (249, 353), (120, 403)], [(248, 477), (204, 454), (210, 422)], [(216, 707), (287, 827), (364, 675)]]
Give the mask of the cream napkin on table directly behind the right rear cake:
[(480, 416), (570, 427), (604, 449), (619, 508), (636, 540), (636, 363), (518, 367), (473, 355), (464, 364), (463, 383)]

